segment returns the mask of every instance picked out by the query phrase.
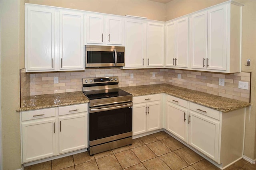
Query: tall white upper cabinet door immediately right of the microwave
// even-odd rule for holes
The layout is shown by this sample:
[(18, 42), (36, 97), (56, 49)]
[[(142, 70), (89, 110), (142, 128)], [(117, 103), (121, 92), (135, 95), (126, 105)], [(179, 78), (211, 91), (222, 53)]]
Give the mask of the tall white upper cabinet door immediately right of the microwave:
[(147, 23), (140, 20), (125, 20), (125, 67), (146, 65)]

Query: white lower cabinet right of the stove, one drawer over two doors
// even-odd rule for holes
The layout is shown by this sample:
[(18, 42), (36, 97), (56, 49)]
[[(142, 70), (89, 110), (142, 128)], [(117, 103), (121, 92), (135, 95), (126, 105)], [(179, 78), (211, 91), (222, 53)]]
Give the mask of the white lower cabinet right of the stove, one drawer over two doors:
[(132, 135), (162, 128), (162, 94), (133, 98)]

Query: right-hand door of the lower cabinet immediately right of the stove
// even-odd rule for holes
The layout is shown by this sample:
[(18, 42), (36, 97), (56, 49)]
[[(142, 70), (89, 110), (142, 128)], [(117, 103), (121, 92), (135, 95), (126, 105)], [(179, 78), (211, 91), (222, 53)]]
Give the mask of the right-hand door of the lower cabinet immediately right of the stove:
[(147, 131), (154, 131), (162, 128), (160, 101), (147, 103)]

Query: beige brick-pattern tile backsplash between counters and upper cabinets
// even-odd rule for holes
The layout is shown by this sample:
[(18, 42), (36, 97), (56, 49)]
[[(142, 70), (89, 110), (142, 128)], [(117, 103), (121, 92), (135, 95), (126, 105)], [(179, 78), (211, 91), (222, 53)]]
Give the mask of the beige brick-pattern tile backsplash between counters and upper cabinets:
[[(134, 78), (130, 78), (130, 73), (134, 74)], [(180, 79), (177, 78), (178, 74), (181, 74)], [(226, 98), (250, 101), (250, 72), (222, 74), (167, 68), (90, 68), (76, 72), (30, 73), (30, 96), (82, 91), (82, 78), (104, 76), (118, 76), (119, 87), (166, 83)], [(54, 77), (58, 77), (59, 83), (54, 84)], [(225, 86), (218, 85), (219, 78), (224, 78)], [(248, 82), (249, 90), (239, 89), (238, 81)]]

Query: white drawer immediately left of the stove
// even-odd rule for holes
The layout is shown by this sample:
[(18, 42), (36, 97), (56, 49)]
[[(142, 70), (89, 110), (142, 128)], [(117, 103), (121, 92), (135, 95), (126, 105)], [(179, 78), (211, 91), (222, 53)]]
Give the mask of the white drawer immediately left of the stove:
[(88, 111), (88, 104), (76, 104), (59, 107), (59, 115), (68, 115)]

